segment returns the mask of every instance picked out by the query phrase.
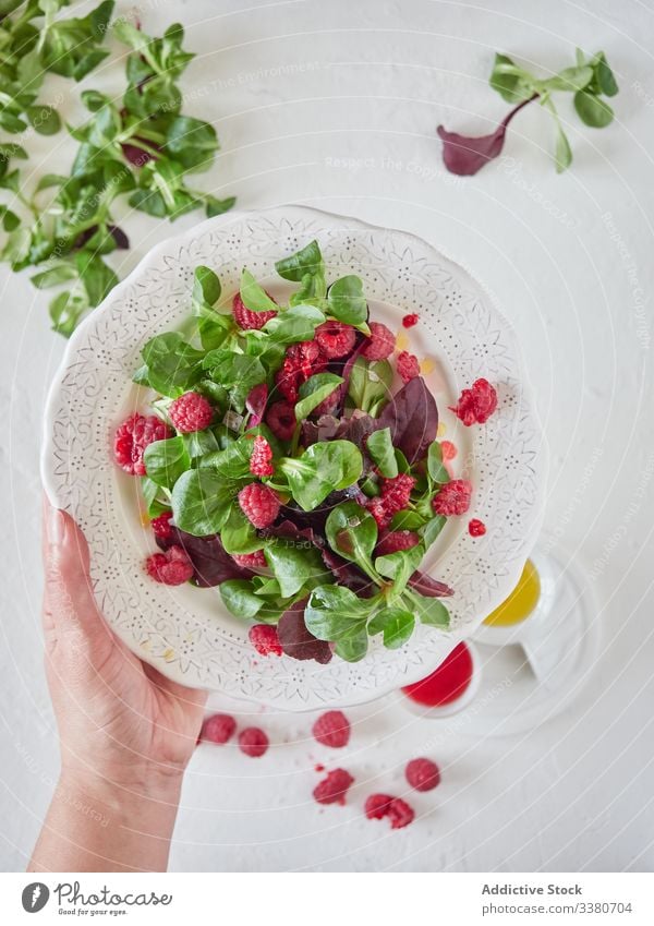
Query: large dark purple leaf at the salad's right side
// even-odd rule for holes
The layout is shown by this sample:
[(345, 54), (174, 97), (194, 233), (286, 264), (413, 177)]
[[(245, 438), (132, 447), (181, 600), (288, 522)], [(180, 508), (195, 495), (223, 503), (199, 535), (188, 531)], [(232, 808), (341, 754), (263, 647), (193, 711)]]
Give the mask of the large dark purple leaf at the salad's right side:
[(396, 393), (374, 425), (373, 431), (390, 428), (393, 446), (410, 464), (423, 459), (438, 429), (436, 401), (423, 377), (415, 376)]

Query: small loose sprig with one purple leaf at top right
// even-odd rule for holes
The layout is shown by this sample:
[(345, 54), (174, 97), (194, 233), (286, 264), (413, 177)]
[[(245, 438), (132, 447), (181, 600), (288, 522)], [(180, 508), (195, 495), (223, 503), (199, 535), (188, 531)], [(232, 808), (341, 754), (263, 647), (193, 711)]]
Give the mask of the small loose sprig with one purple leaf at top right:
[(497, 53), (489, 80), (491, 86), (502, 99), (513, 105), (491, 135), (470, 137), (448, 132), (443, 125), (437, 129), (443, 140), (443, 158), (451, 173), (470, 176), (498, 157), (504, 148), (507, 129), (513, 117), (523, 107), (538, 100), (552, 116), (556, 130), (554, 161), (558, 173), (572, 164), (572, 149), (564, 132), (553, 94), (572, 93), (577, 115), (585, 125), (604, 129), (614, 119), (614, 111), (606, 101), (618, 93), (618, 84), (606, 60), (604, 51), (586, 58), (577, 49), (576, 63), (558, 74), (542, 80), (524, 68), (520, 68), (506, 55)]

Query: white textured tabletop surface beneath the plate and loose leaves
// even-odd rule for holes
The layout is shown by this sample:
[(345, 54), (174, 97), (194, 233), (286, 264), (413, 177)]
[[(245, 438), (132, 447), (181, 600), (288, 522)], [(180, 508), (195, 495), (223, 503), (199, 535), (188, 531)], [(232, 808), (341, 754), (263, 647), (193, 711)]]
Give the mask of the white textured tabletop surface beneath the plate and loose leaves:
[[(171, 867), (651, 869), (654, 3), (143, 0), (136, 9), (148, 33), (182, 20), (198, 52), (184, 81), (187, 110), (211, 119), (222, 145), (206, 189), (237, 194), (244, 208), (298, 202), (411, 230), (498, 300), (521, 337), (550, 445), (546, 527), (592, 570), (604, 635), (582, 696), (526, 737), (453, 735), (427, 749), (434, 727), (387, 701), (351, 712), (346, 755), (312, 744), (311, 718), (284, 715), (261, 719), (274, 741), (263, 759), (203, 747)], [(561, 95), (568, 173), (555, 173), (549, 120), (532, 106), (513, 122), (501, 164), (453, 181), (435, 125), (481, 134), (504, 116), (487, 86), (494, 51), (559, 70), (577, 45), (607, 52), (620, 84), (616, 122), (584, 128)], [(120, 92), (121, 69), (84, 82), (102, 85)], [(49, 87), (80, 121), (77, 88), (58, 79)], [(70, 163), (63, 135), (29, 145), (36, 173)], [(171, 230), (138, 215), (125, 227), (133, 250), (123, 274)], [(26, 864), (58, 768), (41, 671), (38, 450), (64, 345), (27, 275), (2, 268), (1, 284), (0, 867), (13, 870)], [(401, 791), (404, 761), (426, 749), (444, 783), (414, 801), (420, 819), (400, 833), (366, 821), (364, 795)], [(346, 808), (311, 799), (316, 761), (356, 777)]]

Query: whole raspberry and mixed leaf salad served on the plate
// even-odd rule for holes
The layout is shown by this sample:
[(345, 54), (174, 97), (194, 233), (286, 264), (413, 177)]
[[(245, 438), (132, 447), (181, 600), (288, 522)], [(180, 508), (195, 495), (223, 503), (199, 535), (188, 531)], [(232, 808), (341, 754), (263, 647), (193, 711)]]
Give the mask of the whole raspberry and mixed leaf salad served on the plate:
[[(262, 654), (356, 662), (371, 637), (397, 649), (417, 622), (448, 628), (453, 589), (421, 564), (473, 485), (361, 278), (328, 284), (317, 241), (276, 269), (295, 285), (284, 304), (249, 269), (233, 297), (195, 269), (189, 322), (142, 350), (148, 407), (116, 431), (114, 458), (141, 480), (153, 581), (217, 587)], [(451, 410), (470, 426), (496, 407), (481, 378)]]

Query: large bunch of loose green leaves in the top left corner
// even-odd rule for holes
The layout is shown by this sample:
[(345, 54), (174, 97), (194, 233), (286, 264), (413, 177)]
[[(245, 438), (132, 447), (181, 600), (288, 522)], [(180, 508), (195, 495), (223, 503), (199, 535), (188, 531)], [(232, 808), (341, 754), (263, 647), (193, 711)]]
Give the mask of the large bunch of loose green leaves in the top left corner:
[[(113, 0), (105, 0), (85, 19), (57, 21), (61, 0), (28, 0), (0, 21), (4, 61), (0, 65), (0, 125), (19, 132), (29, 121), (37, 131), (60, 128), (57, 112), (34, 104), (47, 70), (80, 80), (109, 52), (101, 48)], [(21, 8), (25, 8), (22, 10)], [(39, 31), (33, 25), (44, 17)], [(68, 284), (50, 302), (53, 328), (69, 336), (80, 320), (118, 282), (106, 256), (130, 246), (112, 218), (119, 196), (132, 208), (157, 218), (175, 219), (195, 208), (207, 216), (231, 208), (234, 199), (218, 200), (190, 187), (187, 176), (206, 170), (218, 149), (208, 122), (182, 113), (179, 79), (193, 59), (182, 48), (184, 31), (171, 25), (161, 38), (145, 35), (124, 19), (113, 24), (116, 37), (131, 49), (128, 86), (120, 104), (87, 89), (82, 101), (92, 113), (86, 124), (69, 128), (78, 147), (68, 175), (41, 177), (31, 194), (23, 189), (16, 160), (24, 147), (0, 145), (0, 188), (13, 193), (17, 209), (0, 207), (8, 232), (0, 258), (20, 270), (43, 267), (32, 277), (46, 289)]]

